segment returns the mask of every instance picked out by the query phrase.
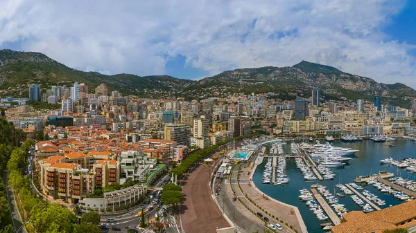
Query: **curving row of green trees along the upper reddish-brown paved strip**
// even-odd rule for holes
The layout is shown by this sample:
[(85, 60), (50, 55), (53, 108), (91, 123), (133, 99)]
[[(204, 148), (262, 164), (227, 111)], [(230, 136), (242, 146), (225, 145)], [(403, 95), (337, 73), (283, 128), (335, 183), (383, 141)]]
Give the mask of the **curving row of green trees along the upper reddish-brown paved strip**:
[(228, 142), (233, 142), (233, 141), (237, 141), (237, 140), (242, 140), (245, 138), (251, 138), (253, 136), (257, 136), (259, 135), (259, 133), (252, 133), (248, 136), (239, 136), (239, 137), (235, 137), (232, 138), (230, 140), (227, 140), (226, 142), (221, 142), (218, 143), (217, 145), (212, 145), (211, 147), (208, 147), (207, 149), (202, 149), (199, 151), (195, 151), (193, 153), (190, 153), (189, 156), (187, 158), (185, 158), (184, 160), (182, 160), (182, 163), (175, 167), (174, 169), (172, 169), (169, 172), (169, 176), (173, 174), (177, 175), (178, 177), (183, 176), (187, 171), (189, 171), (189, 169), (193, 166), (196, 165), (198, 162), (200, 162), (200, 160), (207, 158), (207, 156), (209, 156), (211, 153), (213, 153), (214, 151), (216, 151), (216, 149), (218, 149), (218, 147), (227, 144)]

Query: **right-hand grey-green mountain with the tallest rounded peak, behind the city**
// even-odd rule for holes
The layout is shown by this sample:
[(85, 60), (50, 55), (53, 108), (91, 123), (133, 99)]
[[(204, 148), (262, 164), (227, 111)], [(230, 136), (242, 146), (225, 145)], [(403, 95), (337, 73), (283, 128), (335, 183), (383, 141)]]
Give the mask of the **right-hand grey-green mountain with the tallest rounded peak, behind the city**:
[(185, 95), (204, 98), (226, 93), (276, 93), (281, 100), (311, 97), (313, 86), (321, 89), (325, 100), (371, 100), (379, 95), (383, 103), (409, 106), (416, 91), (404, 84), (382, 84), (368, 77), (302, 61), (292, 67), (266, 66), (224, 71), (190, 84)]

